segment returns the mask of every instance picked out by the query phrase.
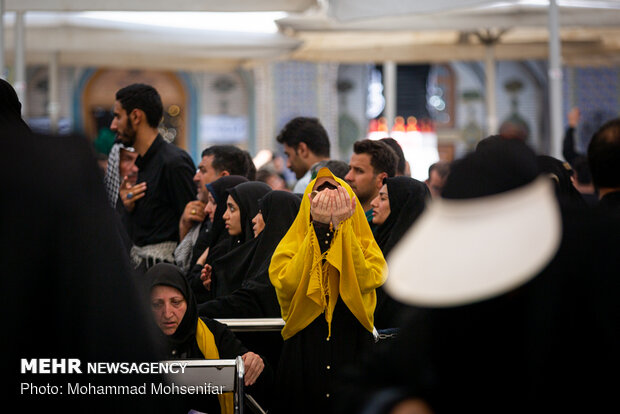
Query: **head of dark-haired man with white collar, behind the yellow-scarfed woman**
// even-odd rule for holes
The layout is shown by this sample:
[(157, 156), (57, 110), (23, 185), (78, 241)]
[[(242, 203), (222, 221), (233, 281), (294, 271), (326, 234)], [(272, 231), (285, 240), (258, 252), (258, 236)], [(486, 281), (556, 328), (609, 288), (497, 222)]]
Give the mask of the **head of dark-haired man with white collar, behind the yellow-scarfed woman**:
[(286, 166), (295, 173), (295, 193), (303, 193), (313, 174), (329, 160), (329, 138), (316, 118), (290, 120), (276, 138), (284, 146)]

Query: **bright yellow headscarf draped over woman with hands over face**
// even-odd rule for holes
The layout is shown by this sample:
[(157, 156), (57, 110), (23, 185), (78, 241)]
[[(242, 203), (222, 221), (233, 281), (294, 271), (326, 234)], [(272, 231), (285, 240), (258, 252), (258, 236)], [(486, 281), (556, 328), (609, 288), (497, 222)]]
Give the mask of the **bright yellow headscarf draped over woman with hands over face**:
[(333, 178), (347, 190), (351, 200), (355, 198), (345, 181), (334, 177), (329, 169), (322, 168), (306, 187), (299, 213), (273, 253), (269, 278), (286, 322), (282, 329), (285, 340), (323, 312), (331, 335), (338, 296), (357, 320), (372, 332), (377, 302), (375, 289), (383, 284), (384, 275), (387, 275), (385, 259), (357, 200), (353, 215), (340, 224), (329, 250), (321, 254), (310, 221), (308, 198), (316, 180), (321, 177)]

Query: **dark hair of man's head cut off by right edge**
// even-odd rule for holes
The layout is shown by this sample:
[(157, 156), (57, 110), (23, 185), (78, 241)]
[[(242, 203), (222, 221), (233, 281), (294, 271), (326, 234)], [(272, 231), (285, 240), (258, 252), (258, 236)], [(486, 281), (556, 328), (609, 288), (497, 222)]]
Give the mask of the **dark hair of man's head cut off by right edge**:
[(596, 188), (620, 187), (620, 118), (606, 122), (588, 145), (588, 163)]

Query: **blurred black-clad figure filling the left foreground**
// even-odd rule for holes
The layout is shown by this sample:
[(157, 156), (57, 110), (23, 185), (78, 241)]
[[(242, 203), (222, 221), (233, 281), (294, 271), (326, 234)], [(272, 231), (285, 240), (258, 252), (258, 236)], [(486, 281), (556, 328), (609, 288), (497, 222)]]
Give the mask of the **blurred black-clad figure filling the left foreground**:
[[(1, 105), (17, 108), (16, 95), (10, 104), (4, 98)], [(19, 112), (13, 119), (0, 114), (0, 169), (12, 177), (3, 183), (0, 203), (2, 303), (13, 312), (6, 322), (10, 340), (2, 345), (9, 382), (4, 402), (29, 411), (173, 412), (176, 404), (157, 396), (67, 396), (69, 382), (137, 387), (162, 381), (151, 374), (86, 372), (88, 362), (156, 362), (154, 332), (92, 144), (85, 137), (32, 134)], [(42, 171), (45, 185), (26, 190), (41, 182)], [(79, 359), (82, 374), (20, 374), (20, 360), (32, 358)], [(62, 387), (63, 394), (20, 392), (22, 384)]]

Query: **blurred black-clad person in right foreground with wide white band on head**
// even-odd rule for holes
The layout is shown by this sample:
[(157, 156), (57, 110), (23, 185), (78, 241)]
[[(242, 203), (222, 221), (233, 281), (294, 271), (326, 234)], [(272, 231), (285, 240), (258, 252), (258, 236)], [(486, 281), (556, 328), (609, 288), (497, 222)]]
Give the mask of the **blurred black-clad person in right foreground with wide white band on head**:
[(415, 308), (394, 341), (341, 378), (337, 412), (613, 406), (619, 224), (559, 199), (518, 140), (456, 162), (443, 197), (388, 258), (386, 291)]

